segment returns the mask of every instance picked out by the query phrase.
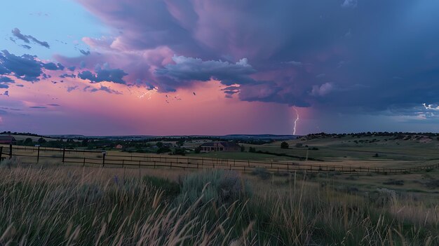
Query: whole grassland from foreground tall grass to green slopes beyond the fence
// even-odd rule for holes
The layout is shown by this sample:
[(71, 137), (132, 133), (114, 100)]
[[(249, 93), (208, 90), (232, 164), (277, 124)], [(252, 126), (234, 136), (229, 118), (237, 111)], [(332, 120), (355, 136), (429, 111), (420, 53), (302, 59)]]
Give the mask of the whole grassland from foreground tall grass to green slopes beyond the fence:
[[(65, 153), (66, 160), (94, 164), (62, 163), (60, 149), (41, 152), (36, 163), (34, 149), (17, 146), (9, 159), (4, 146), (0, 245), (439, 245), (437, 141), (325, 136), (288, 144), (187, 156), (109, 150), (104, 166), (100, 151)], [(111, 164), (127, 155), (126, 165)], [(176, 158), (180, 168), (137, 165)], [(184, 168), (194, 160), (215, 165)], [(247, 169), (224, 170), (234, 160), (245, 160)], [(276, 163), (436, 166), (285, 172)]]

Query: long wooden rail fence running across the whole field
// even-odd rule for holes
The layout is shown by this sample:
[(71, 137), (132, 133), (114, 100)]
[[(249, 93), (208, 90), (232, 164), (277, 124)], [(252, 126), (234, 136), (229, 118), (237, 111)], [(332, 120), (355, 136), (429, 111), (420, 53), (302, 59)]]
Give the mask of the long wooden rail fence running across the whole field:
[(347, 165), (331, 164), (303, 164), (294, 162), (264, 162), (257, 160), (231, 160), (219, 158), (199, 158), (188, 156), (147, 155), (140, 153), (112, 153), (105, 151), (89, 151), (76, 149), (57, 149), (34, 146), (0, 146), (0, 160), (17, 156), (23, 163), (40, 163), (44, 161), (57, 161), (65, 164), (82, 166), (102, 166), (112, 168), (181, 168), (207, 169), (219, 168), (227, 170), (250, 171), (254, 168), (266, 168), (270, 172), (342, 172), (342, 173), (379, 173), (397, 174), (417, 172), (421, 170), (439, 168), (438, 164), (420, 165), (412, 168), (377, 168), (377, 167), (352, 167)]

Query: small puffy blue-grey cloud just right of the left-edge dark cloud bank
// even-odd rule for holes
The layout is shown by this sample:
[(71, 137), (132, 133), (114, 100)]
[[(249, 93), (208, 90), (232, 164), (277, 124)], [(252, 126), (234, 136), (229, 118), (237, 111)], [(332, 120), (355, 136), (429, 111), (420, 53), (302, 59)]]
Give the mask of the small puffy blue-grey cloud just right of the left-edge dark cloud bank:
[(122, 69), (110, 69), (108, 64), (104, 64), (103, 67), (96, 66), (95, 74), (93, 74), (91, 71), (82, 71), (78, 74), (78, 77), (81, 79), (88, 79), (92, 83), (108, 81), (126, 84), (126, 81), (123, 81), (123, 76), (126, 75), (128, 74)]

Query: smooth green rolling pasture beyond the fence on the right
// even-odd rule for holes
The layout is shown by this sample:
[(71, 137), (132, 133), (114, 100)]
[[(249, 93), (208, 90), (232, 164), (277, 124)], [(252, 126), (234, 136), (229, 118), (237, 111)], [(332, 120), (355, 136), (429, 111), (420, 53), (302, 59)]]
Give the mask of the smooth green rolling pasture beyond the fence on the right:
[[(281, 149), (281, 142), (252, 145), (243, 144), (245, 152), (210, 152), (193, 154), (215, 158), (236, 158), (241, 160), (294, 161), (295, 163), (337, 163), (337, 165), (370, 166), (380, 168), (407, 168), (439, 162), (439, 141), (425, 139), (394, 139), (394, 137), (324, 137), (306, 139), (302, 137), (287, 141), (288, 149)], [(302, 144), (301, 147), (296, 147)], [(252, 147), (265, 153), (249, 153)], [(292, 157), (294, 156), (294, 157)], [(309, 158), (305, 161), (306, 157)], [(319, 160), (319, 161), (315, 161)]]

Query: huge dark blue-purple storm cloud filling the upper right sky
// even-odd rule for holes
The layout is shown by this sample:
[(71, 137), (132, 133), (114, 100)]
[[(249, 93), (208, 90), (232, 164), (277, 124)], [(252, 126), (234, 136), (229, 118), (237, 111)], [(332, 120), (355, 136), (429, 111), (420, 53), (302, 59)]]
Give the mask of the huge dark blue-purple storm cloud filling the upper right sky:
[[(104, 52), (80, 59), (109, 60), (128, 83), (147, 81), (160, 92), (214, 78), (236, 84), (224, 92), (241, 100), (337, 112), (407, 114), (396, 109), (439, 103), (437, 1), (79, 2), (123, 30), (89, 39)], [(243, 57), (249, 67), (235, 63)], [(90, 71), (83, 76), (99, 81)]]

